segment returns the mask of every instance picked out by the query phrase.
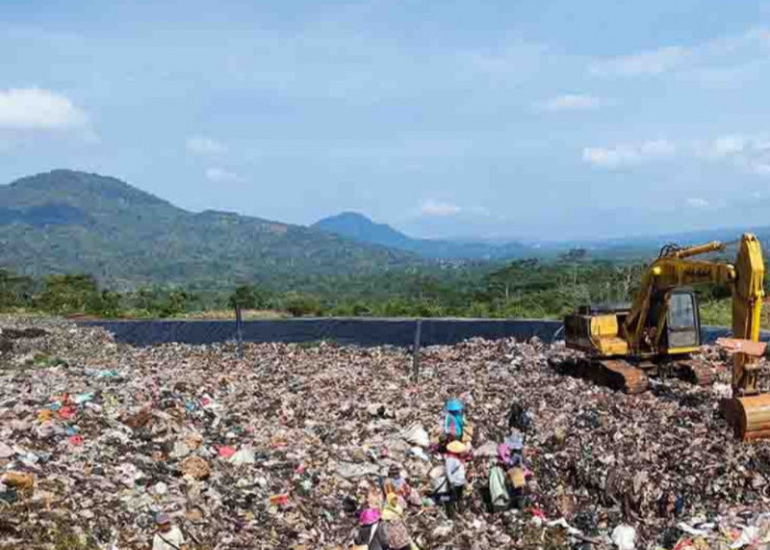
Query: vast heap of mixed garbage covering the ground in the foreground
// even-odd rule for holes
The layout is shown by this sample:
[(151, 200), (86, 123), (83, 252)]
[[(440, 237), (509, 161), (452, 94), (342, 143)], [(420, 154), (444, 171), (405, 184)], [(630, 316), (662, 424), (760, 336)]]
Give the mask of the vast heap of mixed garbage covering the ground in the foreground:
[[(0, 318), (0, 549), (350, 548), (397, 470), (422, 549), (759, 548), (770, 444), (744, 444), (716, 382), (625, 395), (558, 374), (561, 344), (422, 350), (332, 343), (135, 349), (54, 319)], [(763, 382), (767, 384), (767, 381)], [(462, 513), (430, 501), (447, 399), (473, 422)], [(531, 476), (520, 509), (484, 501), (512, 405)], [(164, 546), (165, 544), (165, 546)]]

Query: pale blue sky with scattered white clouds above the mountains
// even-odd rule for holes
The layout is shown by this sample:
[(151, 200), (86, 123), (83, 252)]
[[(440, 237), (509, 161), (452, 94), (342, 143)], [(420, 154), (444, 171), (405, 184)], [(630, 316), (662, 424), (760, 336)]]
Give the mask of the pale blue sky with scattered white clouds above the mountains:
[(770, 226), (770, 1), (0, 0), (0, 183), (417, 237)]

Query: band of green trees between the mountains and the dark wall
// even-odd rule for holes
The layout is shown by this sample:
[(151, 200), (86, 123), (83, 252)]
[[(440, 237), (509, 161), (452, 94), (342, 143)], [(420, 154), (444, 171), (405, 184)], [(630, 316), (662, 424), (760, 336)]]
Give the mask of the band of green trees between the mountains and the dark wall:
[[(88, 274), (33, 278), (0, 270), (0, 310), (168, 318), (238, 305), (295, 317), (559, 318), (590, 302), (630, 300), (644, 267), (640, 263), (592, 260), (585, 251), (574, 250), (554, 261), (443, 265), (377, 275), (297, 274), (243, 282), (230, 289), (196, 282), (184, 287), (148, 285), (122, 292), (100, 285)], [(722, 287), (697, 292), (707, 310), (710, 304), (729, 296)]]

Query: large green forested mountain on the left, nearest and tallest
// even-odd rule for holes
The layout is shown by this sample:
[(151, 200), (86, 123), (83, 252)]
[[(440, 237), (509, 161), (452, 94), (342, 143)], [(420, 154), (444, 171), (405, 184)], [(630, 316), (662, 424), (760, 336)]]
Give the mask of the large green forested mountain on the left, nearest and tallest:
[(404, 251), (231, 212), (189, 212), (119, 179), (53, 170), (0, 185), (0, 267), (82, 272), (118, 287), (367, 273)]

